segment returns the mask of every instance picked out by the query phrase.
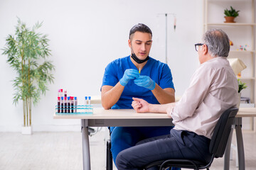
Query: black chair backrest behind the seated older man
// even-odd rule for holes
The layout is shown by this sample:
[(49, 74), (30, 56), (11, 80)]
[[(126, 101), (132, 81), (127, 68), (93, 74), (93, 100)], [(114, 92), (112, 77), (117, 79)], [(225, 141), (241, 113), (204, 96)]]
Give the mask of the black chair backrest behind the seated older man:
[(225, 111), (218, 120), (213, 131), (213, 137), (210, 140), (209, 151), (214, 154), (215, 158), (223, 157), (225, 147), (228, 143), (230, 130), (235, 121), (235, 115), (238, 113), (238, 108), (229, 108)]

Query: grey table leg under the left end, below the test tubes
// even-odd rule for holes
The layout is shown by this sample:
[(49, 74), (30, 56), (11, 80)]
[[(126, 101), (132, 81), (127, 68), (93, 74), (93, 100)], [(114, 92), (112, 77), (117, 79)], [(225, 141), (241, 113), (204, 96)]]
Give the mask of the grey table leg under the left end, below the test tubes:
[(90, 170), (90, 146), (88, 136), (88, 120), (81, 120), (82, 131), (82, 163), (83, 170)]

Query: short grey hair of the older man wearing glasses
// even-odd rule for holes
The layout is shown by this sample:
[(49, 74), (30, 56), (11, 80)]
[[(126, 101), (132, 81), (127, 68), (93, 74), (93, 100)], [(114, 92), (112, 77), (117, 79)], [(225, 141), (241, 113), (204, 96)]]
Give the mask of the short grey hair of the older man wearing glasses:
[(212, 57), (228, 57), (230, 42), (228, 35), (220, 29), (210, 29), (203, 35), (203, 43), (208, 46)]

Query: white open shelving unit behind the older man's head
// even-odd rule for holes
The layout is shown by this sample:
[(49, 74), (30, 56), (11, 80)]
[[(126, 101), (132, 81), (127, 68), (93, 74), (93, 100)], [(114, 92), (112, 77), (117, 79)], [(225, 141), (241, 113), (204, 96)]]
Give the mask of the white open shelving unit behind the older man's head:
[[(236, 23), (224, 23), (224, 10), (230, 6), (240, 10)], [(255, 103), (256, 98), (255, 26), (255, 0), (203, 0), (203, 32), (220, 28), (228, 34), (233, 42), (228, 57), (239, 58), (247, 66), (239, 79), (247, 84), (242, 96), (249, 97), (251, 103)], [(240, 45), (247, 45), (247, 50), (238, 50)]]

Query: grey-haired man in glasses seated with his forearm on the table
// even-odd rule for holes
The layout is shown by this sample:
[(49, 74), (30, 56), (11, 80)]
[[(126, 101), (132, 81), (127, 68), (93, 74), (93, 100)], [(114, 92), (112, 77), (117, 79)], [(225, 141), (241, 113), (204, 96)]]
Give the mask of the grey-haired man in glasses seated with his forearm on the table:
[(201, 65), (180, 101), (156, 105), (133, 98), (135, 111), (167, 113), (175, 126), (170, 135), (142, 140), (120, 152), (116, 159), (119, 170), (143, 169), (161, 159), (210, 159), (213, 129), (221, 113), (238, 102), (238, 81), (227, 60), (230, 45), (223, 30), (208, 30), (195, 47)]

